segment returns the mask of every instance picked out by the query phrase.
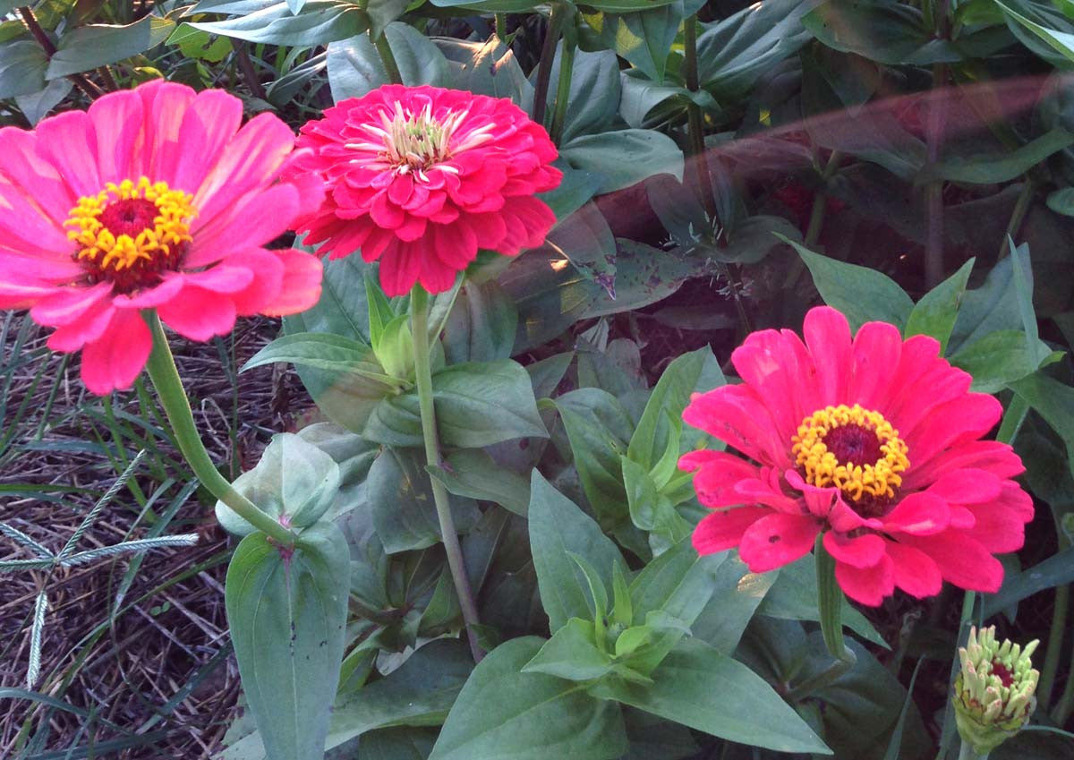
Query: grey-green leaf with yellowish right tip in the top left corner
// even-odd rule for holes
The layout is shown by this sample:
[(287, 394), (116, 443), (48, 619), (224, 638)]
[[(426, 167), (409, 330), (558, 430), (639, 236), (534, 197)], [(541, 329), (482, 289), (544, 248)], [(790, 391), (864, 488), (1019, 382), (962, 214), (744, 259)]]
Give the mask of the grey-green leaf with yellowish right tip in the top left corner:
[(104, 24), (78, 27), (59, 39), (45, 78), (77, 74), (145, 53), (164, 42), (173, 29), (175, 21), (151, 15), (125, 27)]

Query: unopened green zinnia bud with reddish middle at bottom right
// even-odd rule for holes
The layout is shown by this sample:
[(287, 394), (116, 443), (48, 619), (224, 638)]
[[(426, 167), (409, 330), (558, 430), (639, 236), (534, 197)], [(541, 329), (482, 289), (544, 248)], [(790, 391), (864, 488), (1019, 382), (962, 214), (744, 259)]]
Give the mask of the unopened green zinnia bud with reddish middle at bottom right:
[(962, 669), (955, 679), (955, 720), (958, 733), (977, 755), (988, 755), (1018, 733), (1036, 706), (1033, 692), (1041, 674), (1030, 655), (1039, 641), (1022, 649), (1008, 640), (996, 641), (996, 626), (970, 629), (970, 640), (958, 651)]

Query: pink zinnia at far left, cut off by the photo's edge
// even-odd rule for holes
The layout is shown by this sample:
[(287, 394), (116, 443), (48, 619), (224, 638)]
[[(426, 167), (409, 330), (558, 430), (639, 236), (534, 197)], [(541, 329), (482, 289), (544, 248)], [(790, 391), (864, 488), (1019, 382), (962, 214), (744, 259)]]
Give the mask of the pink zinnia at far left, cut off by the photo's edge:
[(319, 180), (279, 182), (294, 135), (243, 104), (162, 81), (107, 94), (88, 112), (0, 130), (0, 308), (56, 327), (82, 350), (98, 394), (129, 388), (151, 338), (142, 309), (207, 340), (237, 315), (287, 315), (320, 295), (321, 263), (266, 250)]

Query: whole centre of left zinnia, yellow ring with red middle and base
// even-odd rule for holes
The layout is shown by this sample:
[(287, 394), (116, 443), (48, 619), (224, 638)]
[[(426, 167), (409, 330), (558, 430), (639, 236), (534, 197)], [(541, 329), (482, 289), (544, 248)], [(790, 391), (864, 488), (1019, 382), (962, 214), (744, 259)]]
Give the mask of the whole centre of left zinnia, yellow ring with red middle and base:
[(97, 195), (78, 199), (64, 222), (77, 244), (72, 254), (90, 282), (112, 282), (131, 293), (178, 268), (190, 243), (191, 196), (142, 177), (108, 182)]

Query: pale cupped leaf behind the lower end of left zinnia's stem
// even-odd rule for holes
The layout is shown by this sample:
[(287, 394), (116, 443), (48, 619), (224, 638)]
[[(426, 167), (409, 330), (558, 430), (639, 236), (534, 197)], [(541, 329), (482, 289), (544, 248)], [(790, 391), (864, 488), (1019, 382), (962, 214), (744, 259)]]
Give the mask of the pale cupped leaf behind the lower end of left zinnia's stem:
[[(335, 501), (339, 467), (300, 436), (280, 433), (273, 436), (257, 467), (238, 476), (233, 485), (262, 512), (304, 528), (320, 520)], [(216, 518), (236, 536), (255, 530), (222, 501), (216, 502)]]

